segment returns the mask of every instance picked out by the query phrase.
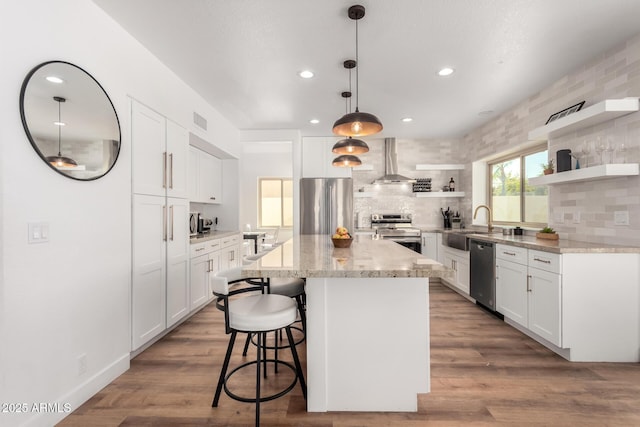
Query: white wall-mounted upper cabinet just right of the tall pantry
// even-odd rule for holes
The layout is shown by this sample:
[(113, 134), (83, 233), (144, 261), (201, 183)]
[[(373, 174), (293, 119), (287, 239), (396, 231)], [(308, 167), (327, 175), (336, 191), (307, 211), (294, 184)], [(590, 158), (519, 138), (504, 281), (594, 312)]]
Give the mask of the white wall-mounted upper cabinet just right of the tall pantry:
[(222, 160), (189, 147), (189, 199), (199, 203), (222, 203)]

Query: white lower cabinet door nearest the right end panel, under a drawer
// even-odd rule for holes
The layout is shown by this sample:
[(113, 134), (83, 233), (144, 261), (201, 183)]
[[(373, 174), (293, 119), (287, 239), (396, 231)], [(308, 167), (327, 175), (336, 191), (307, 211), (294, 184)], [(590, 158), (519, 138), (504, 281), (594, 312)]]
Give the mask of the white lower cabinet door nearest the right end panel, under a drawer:
[(562, 347), (561, 275), (529, 268), (529, 329)]

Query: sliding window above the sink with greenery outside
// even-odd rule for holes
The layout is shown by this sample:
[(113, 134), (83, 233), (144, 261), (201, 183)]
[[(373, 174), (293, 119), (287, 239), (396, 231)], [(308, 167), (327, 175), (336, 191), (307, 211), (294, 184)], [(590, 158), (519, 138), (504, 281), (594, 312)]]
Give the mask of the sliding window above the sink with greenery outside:
[(547, 159), (545, 145), (489, 162), (489, 204), (495, 224), (547, 224), (547, 186), (529, 184), (529, 178), (543, 174), (542, 165)]

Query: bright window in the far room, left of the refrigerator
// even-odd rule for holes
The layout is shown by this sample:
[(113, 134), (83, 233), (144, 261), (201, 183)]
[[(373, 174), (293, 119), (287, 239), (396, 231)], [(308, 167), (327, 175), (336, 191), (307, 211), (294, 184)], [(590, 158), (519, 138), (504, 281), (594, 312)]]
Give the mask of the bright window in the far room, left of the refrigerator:
[(258, 227), (293, 227), (291, 178), (258, 179)]

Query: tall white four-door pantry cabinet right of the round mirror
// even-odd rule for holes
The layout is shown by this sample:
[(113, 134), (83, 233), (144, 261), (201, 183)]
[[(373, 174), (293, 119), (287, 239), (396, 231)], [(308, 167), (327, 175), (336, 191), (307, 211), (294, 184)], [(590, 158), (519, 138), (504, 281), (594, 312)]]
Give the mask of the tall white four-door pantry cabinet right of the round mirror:
[(189, 313), (186, 129), (131, 101), (132, 350)]

